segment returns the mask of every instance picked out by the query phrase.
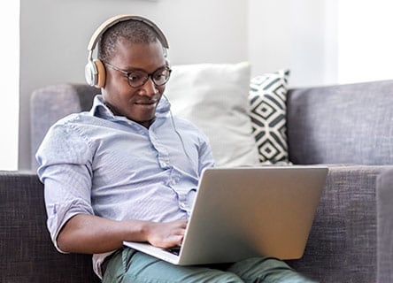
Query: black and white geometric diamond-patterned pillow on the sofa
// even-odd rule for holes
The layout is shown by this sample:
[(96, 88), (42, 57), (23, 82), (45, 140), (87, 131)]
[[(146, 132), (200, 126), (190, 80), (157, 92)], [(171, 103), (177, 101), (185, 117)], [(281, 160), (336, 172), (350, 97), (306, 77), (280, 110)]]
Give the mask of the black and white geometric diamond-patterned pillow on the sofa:
[(250, 119), (261, 164), (290, 164), (286, 102), (289, 70), (264, 73), (250, 80)]

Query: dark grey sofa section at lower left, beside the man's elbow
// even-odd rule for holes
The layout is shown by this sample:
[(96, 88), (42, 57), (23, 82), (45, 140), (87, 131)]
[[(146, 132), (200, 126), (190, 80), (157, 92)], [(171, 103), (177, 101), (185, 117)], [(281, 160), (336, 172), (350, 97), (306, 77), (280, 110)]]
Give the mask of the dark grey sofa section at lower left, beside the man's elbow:
[(91, 255), (58, 253), (46, 228), (43, 185), (0, 171), (0, 282), (100, 282)]

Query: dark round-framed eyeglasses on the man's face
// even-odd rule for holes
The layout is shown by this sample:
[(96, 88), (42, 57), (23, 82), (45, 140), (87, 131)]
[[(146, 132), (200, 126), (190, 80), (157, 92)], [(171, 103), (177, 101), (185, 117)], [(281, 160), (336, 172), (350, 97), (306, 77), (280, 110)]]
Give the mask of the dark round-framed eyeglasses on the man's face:
[(110, 67), (115, 71), (122, 73), (125, 77), (127, 77), (128, 85), (131, 88), (142, 87), (146, 83), (146, 81), (149, 80), (149, 78), (151, 78), (151, 80), (156, 85), (156, 87), (163, 86), (169, 80), (169, 77), (171, 76), (171, 72), (172, 72), (172, 70), (168, 66), (158, 68), (153, 73), (146, 73), (142, 70), (132, 70), (127, 72), (106, 62), (104, 62), (104, 65)]

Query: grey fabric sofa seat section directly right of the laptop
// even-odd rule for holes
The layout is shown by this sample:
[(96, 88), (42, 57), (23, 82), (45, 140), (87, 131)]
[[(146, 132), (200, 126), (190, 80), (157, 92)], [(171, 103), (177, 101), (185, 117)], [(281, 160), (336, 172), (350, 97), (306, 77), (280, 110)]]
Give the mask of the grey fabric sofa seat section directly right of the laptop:
[(322, 282), (374, 282), (375, 182), (387, 168), (330, 166), (304, 256), (289, 264)]

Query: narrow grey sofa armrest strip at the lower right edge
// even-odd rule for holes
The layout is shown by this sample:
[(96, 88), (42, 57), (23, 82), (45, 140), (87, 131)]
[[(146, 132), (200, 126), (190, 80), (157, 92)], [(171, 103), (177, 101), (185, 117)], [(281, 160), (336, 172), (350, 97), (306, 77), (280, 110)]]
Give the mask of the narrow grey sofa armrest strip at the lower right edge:
[(393, 282), (393, 170), (377, 178), (377, 282)]

